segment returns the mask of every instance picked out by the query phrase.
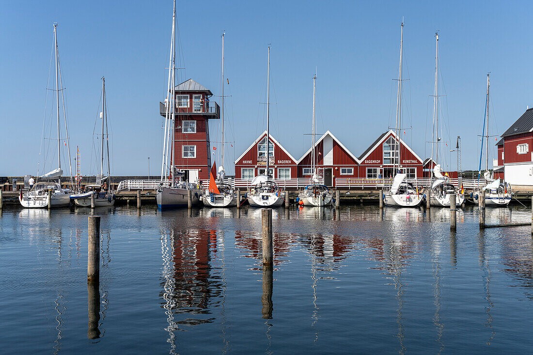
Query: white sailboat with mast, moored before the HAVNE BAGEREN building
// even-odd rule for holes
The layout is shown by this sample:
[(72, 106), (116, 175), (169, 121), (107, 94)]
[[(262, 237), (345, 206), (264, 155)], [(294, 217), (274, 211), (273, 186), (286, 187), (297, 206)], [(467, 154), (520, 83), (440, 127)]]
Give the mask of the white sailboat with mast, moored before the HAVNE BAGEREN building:
[(284, 202), (281, 188), (271, 179), (270, 167), (270, 46), (268, 47), (268, 64), (266, 69), (266, 175), (255, 176), (247, 192), (250, 206), (280, 206)]

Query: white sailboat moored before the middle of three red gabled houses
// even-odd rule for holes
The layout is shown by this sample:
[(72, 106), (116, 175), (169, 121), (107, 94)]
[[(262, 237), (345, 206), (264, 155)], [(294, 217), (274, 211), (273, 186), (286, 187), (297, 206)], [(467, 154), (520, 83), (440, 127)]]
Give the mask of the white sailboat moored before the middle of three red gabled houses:
[(298, 193), (297, 203), (303, 206), (327, 206), (333, 204), (333, 196), (324, 184), (318, 183), (318, 174), (316, 166), (316, 155), (314, 154), (316, 147), (315, 142), (315, 125), (314, 125), (314, 101), (316, 93), (317, 76), (313, 76), (313, 122), (311, 125), (311, 184), (307, 185), (300, 193)]

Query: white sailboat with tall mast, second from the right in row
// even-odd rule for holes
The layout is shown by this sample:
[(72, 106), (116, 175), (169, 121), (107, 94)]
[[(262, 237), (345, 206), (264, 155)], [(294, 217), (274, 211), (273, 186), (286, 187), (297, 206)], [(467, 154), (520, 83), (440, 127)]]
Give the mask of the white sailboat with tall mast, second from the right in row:
[(435, 91), (433, 97), (433, 131), (431, 142), (431, 158), (433, 159), (433, 147), (435, 147), (435, 167), (433, 174), (435, 180), (431, 181), (431, 186), (427, 192), (426, 198), (430, 198), (431, 206), (449, 207), (450, 195), (455, 193), (457, 206), (463, 204), (465, 199), (461, 191), (458, 191), (454, 185), (448, 183), (448, 177), (442, 175), (441, 166), (438, 164), (439, 160), (439, 34), (435, 33)]

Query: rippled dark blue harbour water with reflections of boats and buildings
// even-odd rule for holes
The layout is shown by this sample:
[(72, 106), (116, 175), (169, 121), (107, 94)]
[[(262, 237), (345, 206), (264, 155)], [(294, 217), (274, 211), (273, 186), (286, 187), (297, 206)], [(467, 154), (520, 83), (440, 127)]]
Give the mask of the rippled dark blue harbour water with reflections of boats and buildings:
[[(4, 208), (3, 353), (530, 353), (530, 227), (479, 230), (475, 209)], [(487, 223), (529, 208), (488, 208)]]

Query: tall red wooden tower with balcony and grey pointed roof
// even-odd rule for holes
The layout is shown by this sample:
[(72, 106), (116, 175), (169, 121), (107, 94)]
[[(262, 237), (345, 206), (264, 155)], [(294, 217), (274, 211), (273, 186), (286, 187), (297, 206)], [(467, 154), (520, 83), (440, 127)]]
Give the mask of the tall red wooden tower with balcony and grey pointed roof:
[[(209, 101), (213, 93), (189, 79), (175, 87), (176, 107), (174, 127), (175, 168), (185, 172), (185, 180), (209, 180), (211, 143), (209, 119), (220, 118), (220, 107)], [(160, 114), (166, 115), (166, 101), (160, 102)]]

